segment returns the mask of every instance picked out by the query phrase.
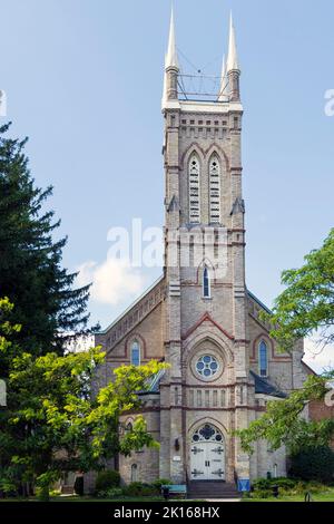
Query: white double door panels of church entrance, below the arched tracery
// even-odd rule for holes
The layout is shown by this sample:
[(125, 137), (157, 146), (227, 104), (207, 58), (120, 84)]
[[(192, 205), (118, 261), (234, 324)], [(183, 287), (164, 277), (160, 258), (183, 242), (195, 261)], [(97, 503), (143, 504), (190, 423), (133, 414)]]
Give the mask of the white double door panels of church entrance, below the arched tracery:
[(225, 481), (225, 446), (199, 441), (190, 448), (191, 481)]

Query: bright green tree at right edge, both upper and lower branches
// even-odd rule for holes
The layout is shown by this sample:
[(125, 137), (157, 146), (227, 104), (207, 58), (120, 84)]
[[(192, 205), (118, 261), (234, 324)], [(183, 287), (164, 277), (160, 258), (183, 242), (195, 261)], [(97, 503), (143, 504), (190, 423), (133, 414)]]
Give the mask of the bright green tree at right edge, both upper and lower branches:
[[(276, 299), (273, 314), (262, 313), (268, 321), (272, 337), (282, 351), (292, 351), (302, 338), (318, 333), (325, 346), (334, 341), (334, 230), (320, 250), (305, 256), (298, 270), (285, 271), (282, 282), (287, 288)], [(277, 449), (286, 444), (296, 454), (305, 447), (326, 446), (334, 436), (334, 419), (307, 421), (299, 417), (306, 402), (324, 400), (327, 382), (334, 371), (322, 377), (310, 377), (303, 389), (288, 399), (269, 402), (267, 413), (253, 421), (248, 429), (239, 431), (242, 446), (253, 453), (253, 443), (267, 439)]]

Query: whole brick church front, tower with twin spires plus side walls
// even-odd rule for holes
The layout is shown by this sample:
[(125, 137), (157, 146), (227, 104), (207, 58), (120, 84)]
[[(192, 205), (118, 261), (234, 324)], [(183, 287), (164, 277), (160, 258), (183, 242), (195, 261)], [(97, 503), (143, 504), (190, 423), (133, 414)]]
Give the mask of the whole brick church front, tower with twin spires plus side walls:
[[(228, 60), (215, 101), (181, 99), (171, 20), (163, 115), (166, 176), (164, 275), (96, 343), (107, 352), (99, 384), (120, 365), (169, 368), (143, 396), (159, 449), (118, 457), (124, 483), (226, 482), (286, 474), (285, 449), (265, 441), (245, 455), (233, 431), (302, 386), (303, 342), (282, 355), (246, 287), (240, 69), (230, 23)], [(137, 414), (124, 416), (130, 425)]]

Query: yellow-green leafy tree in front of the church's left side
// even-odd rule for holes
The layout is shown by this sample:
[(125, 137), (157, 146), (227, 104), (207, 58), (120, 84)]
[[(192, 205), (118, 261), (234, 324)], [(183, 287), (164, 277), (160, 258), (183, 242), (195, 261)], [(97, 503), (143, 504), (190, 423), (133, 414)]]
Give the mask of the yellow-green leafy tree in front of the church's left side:
[[(10, 332), (6, 313), (11, 307), (7, 301), (2, 305), (1, 350), (7, 355), (14, 347), (4, 337)], [(165, 366), (153, 361), (121, 367), (115, 380), (92, 397), (91, 382), (104, 362), (100, 348), (65, 357), (36, 357), (21, 350), (12, 355), (8, 409), (0, 411), (0, 478), (7, 489), (30, 483), (45, 499), (62, 472), (99, 470), (118, 453), (129, 455), (156, 445), (143, 417), (135, 419), (130, 431), (122, 430), (119, 419), (125, 411), (140, 409), (137, 392), (146, 390)]]

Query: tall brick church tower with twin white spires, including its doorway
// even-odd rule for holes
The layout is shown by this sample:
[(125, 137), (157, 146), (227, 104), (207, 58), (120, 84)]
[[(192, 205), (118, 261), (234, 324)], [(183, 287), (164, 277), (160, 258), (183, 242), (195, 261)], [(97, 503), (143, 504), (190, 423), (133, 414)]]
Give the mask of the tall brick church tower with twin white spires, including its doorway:
[(179, 455), (170, 455), (175, 478), (185, 470), (191, 481), (233, 477), (223, 427), (230, 426), (235, 385), (248, 377), (239, 75), (230, 27), (220, 91), (207, 100), (180, 97), (171, 23), (163, 97), (170, 363), (164, 395), (173, 399), (171, 448), (173, 439), (183, 440)]

